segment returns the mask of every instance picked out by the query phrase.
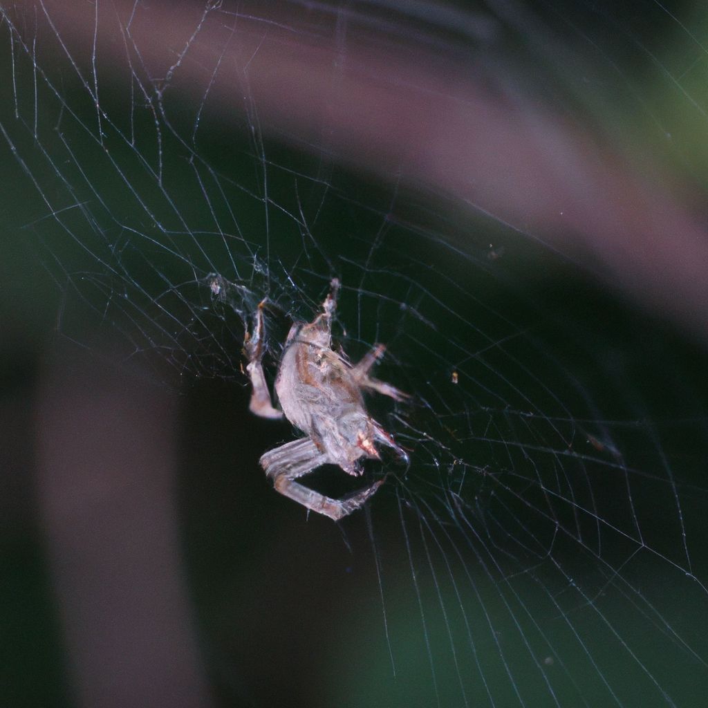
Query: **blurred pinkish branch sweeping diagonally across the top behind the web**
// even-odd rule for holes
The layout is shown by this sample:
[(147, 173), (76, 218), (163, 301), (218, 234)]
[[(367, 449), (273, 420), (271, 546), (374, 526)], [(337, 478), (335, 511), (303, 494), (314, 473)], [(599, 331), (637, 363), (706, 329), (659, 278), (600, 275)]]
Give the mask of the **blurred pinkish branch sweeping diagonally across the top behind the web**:
[(708, 232), (687, 195), (522, 91), (490, 90), (481, 67), (452, 52), (374, 41), (356, 25), (337, 39), (333, 25), (321, 30), (336, 17), (321, 10), (315, 23), (287, 4), (115, 0), (94, 14), (76, 1), (27, 0), (11, 10), (18, 27), (33, 24), (23, 18), (35, 7), (79, 65), (130, 56), (163, 95), (202, 101), (209, 86), (225, 114), (243, 113), (245, 96), (265, 132), (489, 212), (708, 336)]

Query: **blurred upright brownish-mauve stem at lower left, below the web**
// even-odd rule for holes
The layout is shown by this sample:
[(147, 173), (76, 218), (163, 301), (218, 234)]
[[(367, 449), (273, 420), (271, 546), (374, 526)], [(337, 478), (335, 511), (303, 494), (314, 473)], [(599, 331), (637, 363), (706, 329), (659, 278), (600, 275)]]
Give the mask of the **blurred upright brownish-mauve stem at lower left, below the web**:
[(78, 704), (207, 706), (184, 582), (174, 401), (64, 352), (39, 392), (38, 492)]

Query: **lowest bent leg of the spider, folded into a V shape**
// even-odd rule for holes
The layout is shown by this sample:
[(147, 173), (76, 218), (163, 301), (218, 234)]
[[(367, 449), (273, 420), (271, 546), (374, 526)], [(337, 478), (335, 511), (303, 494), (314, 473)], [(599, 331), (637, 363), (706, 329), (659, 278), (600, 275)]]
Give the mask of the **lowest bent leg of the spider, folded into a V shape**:
[(367, 489), (354, 492), (343, 499), (333, 499), (295, 481), (298, 477), (312, 472), (327, 462), (329, 462), (327, 455), (320, 452), (310, 438), (286, 442), (285, 445), (280, 445), (261, 457), (261, 467), (273, 480), (276, 491), (312, 511), (329, 516), (334, 521), (363, 506), (383, 484), (383, 480), (380, 479)]

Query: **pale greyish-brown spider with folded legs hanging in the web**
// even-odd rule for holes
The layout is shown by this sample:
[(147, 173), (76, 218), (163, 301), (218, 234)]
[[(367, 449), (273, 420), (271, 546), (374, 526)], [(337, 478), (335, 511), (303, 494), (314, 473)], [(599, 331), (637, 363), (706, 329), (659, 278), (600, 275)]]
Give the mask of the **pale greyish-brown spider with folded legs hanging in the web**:
[(392, 436), (369, 416), (362, 396), (362, 392), (370, 390), (396, 401), (409, 399), (408, 394), (369, 376), (373, 365), (383, 356), (385, 346), (377, 344), (356, 365), (332, 349), (332, 316), (339, 287), (339, 281), (332, 280), (322, 312), (309, 324), (296, 322), (290, 328), (275, 378), (275, 393), (282, 411), (273, 406), (263, 373), (265, 299), (256, 310), (253, 333), (246, 329), (244, 338), (249, 358), (246, 371), (253, 387), (249, 408), (263, 418), (285, 415), (306, 435), (265, 452), (260, 459), (261, 467), (282, 495), (335, 521), (360, 508), (384, 479), (333, 499), (299, 484), (299, 477), (323, 464), (336, 464), (347, 474), (358, 476), (362, 474), (362, 459), (381, 459), (377, 443), (392, 447), (406, 464), (409, 461)]

